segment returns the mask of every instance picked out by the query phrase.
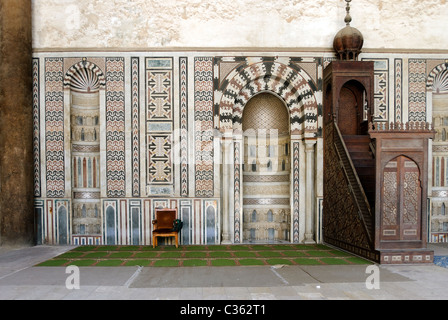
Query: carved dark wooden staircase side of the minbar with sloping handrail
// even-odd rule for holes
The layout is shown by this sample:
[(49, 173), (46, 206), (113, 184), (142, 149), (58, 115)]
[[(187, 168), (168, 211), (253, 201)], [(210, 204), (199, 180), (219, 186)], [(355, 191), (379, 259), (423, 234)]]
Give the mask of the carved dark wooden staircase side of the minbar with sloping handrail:
[(333, 121), (325, 126), (323, 238), (325, 243), (378, 262), (371, 208), (376, 171), (370, 143), (368, 135), (343, 137)]

